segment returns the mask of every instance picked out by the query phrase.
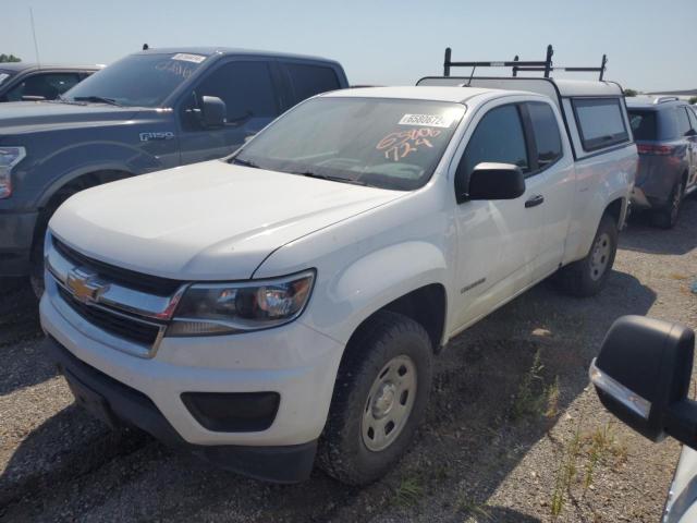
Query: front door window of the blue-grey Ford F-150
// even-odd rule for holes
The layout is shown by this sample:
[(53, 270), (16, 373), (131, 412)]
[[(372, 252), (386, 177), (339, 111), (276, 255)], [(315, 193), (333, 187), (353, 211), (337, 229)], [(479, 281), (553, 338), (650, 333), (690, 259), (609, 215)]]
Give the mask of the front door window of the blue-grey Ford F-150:
[(225, 102), (228, 123), (279, 113), (271, 72), (266, 62), (229, 62), (196, 87), (198, 99), (217, 96)]

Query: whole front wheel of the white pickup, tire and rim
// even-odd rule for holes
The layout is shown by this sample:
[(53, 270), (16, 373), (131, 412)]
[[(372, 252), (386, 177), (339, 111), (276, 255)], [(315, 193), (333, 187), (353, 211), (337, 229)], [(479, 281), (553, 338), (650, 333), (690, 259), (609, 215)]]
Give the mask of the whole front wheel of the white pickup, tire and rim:
[(339, 367), (318, 463), (365, 485), (384, 475), (414, 437), (428, 402), (433, 350), (426, 330), (379, 312), (354, 335)]

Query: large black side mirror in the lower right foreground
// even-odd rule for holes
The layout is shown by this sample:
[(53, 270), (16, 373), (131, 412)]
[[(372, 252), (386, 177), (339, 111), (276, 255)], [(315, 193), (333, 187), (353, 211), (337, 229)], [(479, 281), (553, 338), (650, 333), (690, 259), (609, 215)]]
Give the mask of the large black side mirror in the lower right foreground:
[(692, 329), (623, 316), (590, 364), (590, 380), (604, 408), (637, 433), (697, 448), (697, 402), (687, 398), (694, 352)]

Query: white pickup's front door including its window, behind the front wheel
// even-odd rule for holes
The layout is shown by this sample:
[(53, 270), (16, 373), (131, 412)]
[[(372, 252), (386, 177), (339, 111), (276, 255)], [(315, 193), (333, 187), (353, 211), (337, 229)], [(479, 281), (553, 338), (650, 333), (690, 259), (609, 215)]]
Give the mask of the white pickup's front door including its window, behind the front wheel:
[[(494, 102), (496, 104), (496, 102)], [(533, 281), (541, 244), (542, 207), (536, 202), (542, 178), (534, 172), (533, 154), (522, 119), (522, 104), (487, 105), (470, 124), (474, 131), (455, 173), (457, 194), (481, 162), (517, 165), (526, 174), (523, 196), (508, 200), (464, 200), (455, 210), (457, 330), (489, 314)], [(469, 134), (469, 133), (468, 133)]]

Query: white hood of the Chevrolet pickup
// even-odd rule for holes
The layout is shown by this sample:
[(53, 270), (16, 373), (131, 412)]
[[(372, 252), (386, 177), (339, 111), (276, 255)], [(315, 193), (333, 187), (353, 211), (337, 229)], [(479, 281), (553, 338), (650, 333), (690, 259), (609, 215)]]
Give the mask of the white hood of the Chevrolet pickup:
[(404, 194), (215, 160), (78, 193), (49, 227), (73, 248), (118, 267), (187, 281), (241, 280), (282, 245)]

